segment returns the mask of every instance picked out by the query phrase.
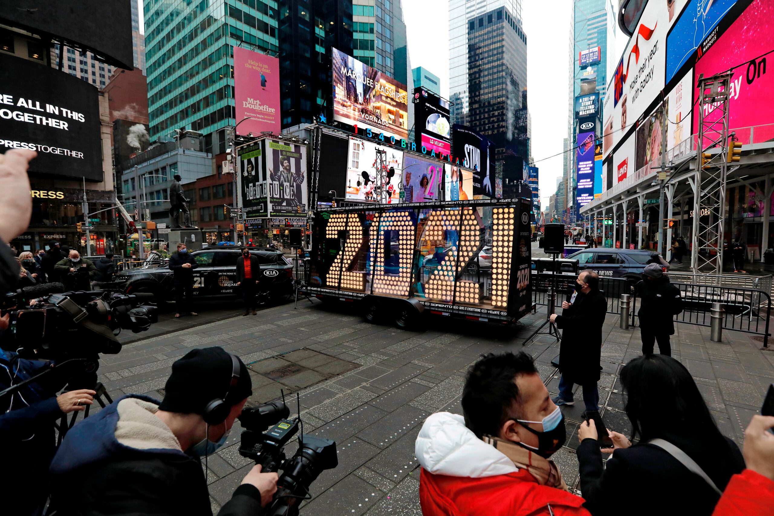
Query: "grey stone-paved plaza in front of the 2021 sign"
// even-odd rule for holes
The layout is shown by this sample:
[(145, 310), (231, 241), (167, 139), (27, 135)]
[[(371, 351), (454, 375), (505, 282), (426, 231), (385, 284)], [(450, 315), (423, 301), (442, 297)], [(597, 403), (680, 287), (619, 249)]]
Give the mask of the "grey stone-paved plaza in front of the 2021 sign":
[[(558, 343), (539, 335), (522, 345), (545, 312), (530, 314), (510, 330), (435, 319), (420, 332), (366, 323), (348, 303), (304, 301), (298, 309), (288, 304), (247, 317), (238, 312), (175, 333), (137, 336), (142, 340), (125, 344), (120, 354), (103, 355), (100, 380), (114, 399), (126, 393), (160, 399), (173, 361), (192, 347), (219, 345), (251, 364), (251, 403), (276, 398), (283, 387), (291, 393), (288, 404), (295, 415), (298, 392), (304, 430), (334, 439), (339, 461), (312, 484), (313, 499), (303, 514), (420, 514), (414, 440), (427, 415), (461, 413), (465, 372), (481, 354), (524, 350), (535, 358), (549, 390), (557, 392), (550, 361)], [(721, 431), (741, 444), (750, 417), (774, 382), (774, 353), (759, 350), (759, 341), (744, 333), (727, 331), (723, 342), (713, 343), (709, 328), (676, 326), (673, 356), (693, 374)], [(617, 373), (640, 354), (639, 330), (619, 329), (618, 316), (608, 314), (603, 335), (602, 417), (609, 429), (629, 435)], [(563, 411), (568, 442), (553, 457), (567, 484), (577, 486), (574, 448), (583, 404)], [(214, 509), (228, 501), (251, 466), (238, 454), (240, 432), (237, 424), (224, 449), (209, 457)], [(294, 440), (286, 453), (295, 451)]]

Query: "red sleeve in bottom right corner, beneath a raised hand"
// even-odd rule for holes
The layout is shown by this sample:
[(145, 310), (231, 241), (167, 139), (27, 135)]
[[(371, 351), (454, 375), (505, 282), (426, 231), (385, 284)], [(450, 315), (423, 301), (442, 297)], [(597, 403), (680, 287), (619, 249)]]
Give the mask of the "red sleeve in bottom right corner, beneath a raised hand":
[[(422, 487), (420, 485), (420, 495)], [(731, 477), (712, 516), (772, 516), (774, 482), (753, 470)]]

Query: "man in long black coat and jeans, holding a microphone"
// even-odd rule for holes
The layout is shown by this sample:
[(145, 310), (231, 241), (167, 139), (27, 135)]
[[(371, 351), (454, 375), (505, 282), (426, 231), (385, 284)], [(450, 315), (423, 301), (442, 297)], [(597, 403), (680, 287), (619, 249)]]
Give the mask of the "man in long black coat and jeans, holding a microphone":
[(599, 410), (600, 359), (602, 354), (602, 324), (608, 311), (608, 302), (599, 290), (599, 275), (594, 271), (580, 272), (574, 283), (571, 301), (562, 302), (562, 315), (551, 314), (562, 333), (559, 348), (559, 395), (556, 405), (574, 405), (573, 387), (583, 387), (586, 411)]

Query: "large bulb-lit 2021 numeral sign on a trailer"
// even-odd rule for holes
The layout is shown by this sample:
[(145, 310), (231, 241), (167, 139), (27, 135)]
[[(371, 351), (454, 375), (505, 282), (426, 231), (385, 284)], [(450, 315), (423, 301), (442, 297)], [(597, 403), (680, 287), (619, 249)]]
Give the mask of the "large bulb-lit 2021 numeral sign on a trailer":
[(405, 203), (316, 214), (310, 289), (415, 298), (518, 318), (531, 309), (529, 200)]

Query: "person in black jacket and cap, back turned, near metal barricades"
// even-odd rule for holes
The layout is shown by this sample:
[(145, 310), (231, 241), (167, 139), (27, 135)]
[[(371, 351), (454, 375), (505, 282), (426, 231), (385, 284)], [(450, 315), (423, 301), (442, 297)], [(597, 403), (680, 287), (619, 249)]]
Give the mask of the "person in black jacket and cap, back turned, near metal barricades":
[(642, 354), (652, 354), (653, 342), (659, 343), (659, 353), (671, 356), (670, 335), (675, 334), (673, 317), (683, 311), (680, 289), (670, 283), (661, 265), (652, 263), (642, 271), (637, 283), (640, 298), (639, 330), (642, 335)]

